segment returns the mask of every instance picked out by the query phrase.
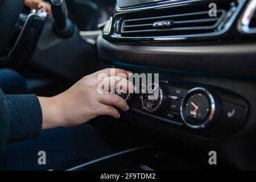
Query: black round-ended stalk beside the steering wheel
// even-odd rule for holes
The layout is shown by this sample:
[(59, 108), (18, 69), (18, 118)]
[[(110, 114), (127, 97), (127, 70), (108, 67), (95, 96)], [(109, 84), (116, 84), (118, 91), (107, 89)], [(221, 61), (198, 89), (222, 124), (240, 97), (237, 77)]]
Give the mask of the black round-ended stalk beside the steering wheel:
[(55, 19), (53, 31), (60, 38), (69, 38), (73, 35), (74, 25), (68, 19), (68, 9), (65, 0), (51, 0), (52, 15)]

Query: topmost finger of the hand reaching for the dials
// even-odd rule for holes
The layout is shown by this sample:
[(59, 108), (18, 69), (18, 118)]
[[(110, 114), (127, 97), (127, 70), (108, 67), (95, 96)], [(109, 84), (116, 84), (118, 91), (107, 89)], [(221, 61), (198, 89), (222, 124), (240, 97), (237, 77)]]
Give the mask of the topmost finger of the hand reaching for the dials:
[(106, 75), (106, 77), (111, 76), (119, 76), (122, 78), (129, 78), (129, 73), (125, 71), (124, 69), (117, 69), (117, 68), (107, 68), (103, 69), (101, 71), (98, 71), (96, 73), (93, 73), (94, 76), (98, 77), (99, 75)]

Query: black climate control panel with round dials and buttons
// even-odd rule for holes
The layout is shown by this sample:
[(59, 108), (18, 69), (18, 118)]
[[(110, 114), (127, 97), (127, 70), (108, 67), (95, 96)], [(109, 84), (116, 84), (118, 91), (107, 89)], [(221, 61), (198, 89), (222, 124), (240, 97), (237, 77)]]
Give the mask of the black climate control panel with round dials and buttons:
[(246, 101), (229, 90), (166, 80), (147, 90), (128, 100), (132, 110), (181, 130), (221, 136), (241, 129), (246, 119)]

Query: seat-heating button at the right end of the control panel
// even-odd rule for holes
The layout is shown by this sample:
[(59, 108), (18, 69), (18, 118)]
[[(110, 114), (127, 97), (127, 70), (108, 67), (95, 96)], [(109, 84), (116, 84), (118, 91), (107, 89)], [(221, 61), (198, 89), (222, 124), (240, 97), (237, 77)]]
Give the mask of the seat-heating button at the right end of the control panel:
[(225, 101), (223, 101), (222, 104), (222, 119), (225, 119), (225, 121), (230, 121), (232, 123), (245, 121), (247, 114), (246, 107), (242, 107)]

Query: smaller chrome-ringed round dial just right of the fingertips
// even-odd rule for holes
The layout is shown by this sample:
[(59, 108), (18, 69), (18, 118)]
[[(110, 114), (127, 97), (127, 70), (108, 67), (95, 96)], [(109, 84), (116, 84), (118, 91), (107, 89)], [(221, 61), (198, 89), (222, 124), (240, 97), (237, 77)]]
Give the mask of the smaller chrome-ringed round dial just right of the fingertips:
[(142, 107), (148, 112), (163, 110), (168, 102), (168, 91), (162, 84), (147, 85), (147, 93), (142, 94)]

